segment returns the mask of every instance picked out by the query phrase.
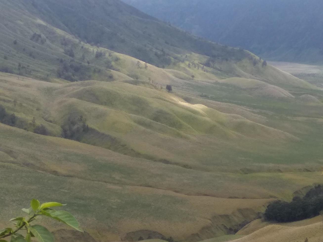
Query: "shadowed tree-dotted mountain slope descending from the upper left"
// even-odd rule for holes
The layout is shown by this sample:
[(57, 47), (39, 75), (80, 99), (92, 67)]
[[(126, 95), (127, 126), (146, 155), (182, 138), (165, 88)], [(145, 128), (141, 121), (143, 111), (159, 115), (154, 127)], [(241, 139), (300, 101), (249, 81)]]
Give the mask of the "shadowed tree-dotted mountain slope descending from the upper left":
[[(0, 7), (4, 72), (50, 82), (244, 77), (314, 88), (248, 51), (187, 34), (119, 0), (0, 1)], [(149, 64), (175, 71), (152, 75)]]

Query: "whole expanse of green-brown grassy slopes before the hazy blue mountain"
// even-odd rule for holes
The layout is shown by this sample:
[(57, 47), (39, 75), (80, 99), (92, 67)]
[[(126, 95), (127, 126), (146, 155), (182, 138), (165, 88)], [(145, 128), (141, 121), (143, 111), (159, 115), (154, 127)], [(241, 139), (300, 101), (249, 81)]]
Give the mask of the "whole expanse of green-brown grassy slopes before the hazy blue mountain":
[(53, 3), (0, 1), (0, 225), (31, 192), (98, 242), (247, 241), (270, 201), (321, 183), (318, 83), (120, 1)]

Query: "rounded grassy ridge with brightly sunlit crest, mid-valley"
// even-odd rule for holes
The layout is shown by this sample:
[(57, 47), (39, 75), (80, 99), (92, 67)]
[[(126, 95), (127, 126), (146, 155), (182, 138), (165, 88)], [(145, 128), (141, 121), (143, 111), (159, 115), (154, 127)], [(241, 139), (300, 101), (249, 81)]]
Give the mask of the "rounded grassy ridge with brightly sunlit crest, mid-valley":
[[(42, 84), (46, 85), (43, 87)], [(32, 120), (33, 115), (36, 116), (37, 125), (48, 126), (53, 135), (60, 135), (60, 126), (70, 114), (76, 117), (83, 115), (93, 129), (89, 135), (81, 137), (84, 143), (105, 148), (113, 146), (111, 149), (122, 154), (128, 154), (133, 149), (138, 157), (199, 170), (215, 171), (220, 168), (221, 171), (241, 172), (238, 169), (247, 166), (253, 167), (254, 172), (268, 171), (269, 165), (265, 162), (237, 161), (236, 155), (240, 152), (240, 157), (243, 151), (247, 156), (249, 152), (255, 156), (254, 145), (259, 147), (259, 156), (262, 152), (266, 153), (261, 156), (269, 155), (268, 144), (272, 144), (271, 149), (275, 152), (284, 153), (280, 147), (273, 146), (273, 141), (287, 144), (292, 137), (242, 116), (192, 105), (165, 91), (141, 86), (96, 81), (57, 85), (28, 80), (29, 88), (26, 88), (26, 81), (13, 76), (2, 85), (11, 93), (11, 98), (16, 97), (18, 103), (24, 102), (19, 97), (22, 89), (25, 90), (26, 100), (35, 96), (30, 103), (24, 103), (24, 109), (19, 104), (14, 107), (12, 99), (5, 103), (5, 107), (26, 118), (27, 122)], [(37, 103), (44, 103), (43, 108), (39, 109)], [(30, 108), (33, 110), (31, 114)], [(163, 116), (167, 116), (168, 120)], [(201, 123), (203, 125), (198, 125)], [(102, 137), (100, 141), (98, 137)], [(126, 147), (123, 148), (123, 145)], [(192, 147), (204, 149), (203, 154), (196, 153)], [(224, 160), (219, 161), (218, 154)], [(272, 167), (272, 171), (279, 166), (279, 169), (285, 170), (283, 164), (282, 160), (280, 165)]]

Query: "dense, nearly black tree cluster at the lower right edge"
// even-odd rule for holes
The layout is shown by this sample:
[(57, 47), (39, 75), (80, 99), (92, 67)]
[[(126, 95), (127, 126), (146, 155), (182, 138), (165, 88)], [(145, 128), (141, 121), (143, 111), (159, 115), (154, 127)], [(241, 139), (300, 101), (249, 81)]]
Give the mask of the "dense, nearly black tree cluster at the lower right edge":
[(268, 221), (293, 222), (318, 216), (323, 210), (323, 187), (318, 185), (304, 197), (294, 197), (291, 202), (274, 201), (267, 206), (264, 217)]

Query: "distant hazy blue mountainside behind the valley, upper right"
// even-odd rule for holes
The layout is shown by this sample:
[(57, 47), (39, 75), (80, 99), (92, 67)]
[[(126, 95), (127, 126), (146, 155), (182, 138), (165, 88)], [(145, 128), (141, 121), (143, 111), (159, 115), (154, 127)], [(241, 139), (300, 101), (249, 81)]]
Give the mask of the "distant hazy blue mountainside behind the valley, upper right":
[(257, 55), (290, 62), (323, 62), (322, 1), (124, 0), (193, 34)]

